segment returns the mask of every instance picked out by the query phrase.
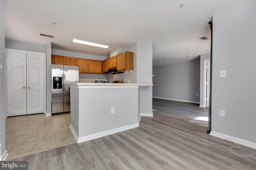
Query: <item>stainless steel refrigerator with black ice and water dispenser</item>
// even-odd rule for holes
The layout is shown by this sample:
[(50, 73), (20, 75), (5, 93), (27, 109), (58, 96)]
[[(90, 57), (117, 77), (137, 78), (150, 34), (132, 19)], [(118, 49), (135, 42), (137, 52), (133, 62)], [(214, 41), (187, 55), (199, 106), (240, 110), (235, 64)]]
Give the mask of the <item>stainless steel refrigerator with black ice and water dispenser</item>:
[(79, 66), (52, 64), (52, 115), (70, 113), (70, 83), (79, 82)]

